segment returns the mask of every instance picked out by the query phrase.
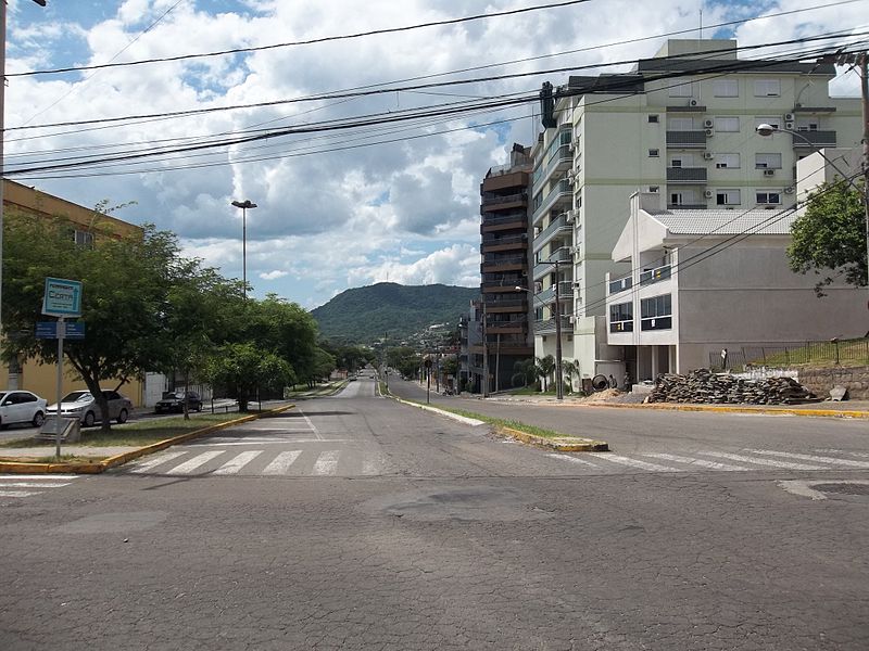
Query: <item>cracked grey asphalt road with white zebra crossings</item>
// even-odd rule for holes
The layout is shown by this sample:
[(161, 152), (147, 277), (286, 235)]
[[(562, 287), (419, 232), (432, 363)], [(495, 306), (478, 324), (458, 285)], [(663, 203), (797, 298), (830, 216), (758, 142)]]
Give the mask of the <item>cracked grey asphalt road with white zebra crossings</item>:
[(865, 422), (477, 403), (616, 451), (363, 380), (109, 474), (2, 477), (0, 649), (869, 648)]

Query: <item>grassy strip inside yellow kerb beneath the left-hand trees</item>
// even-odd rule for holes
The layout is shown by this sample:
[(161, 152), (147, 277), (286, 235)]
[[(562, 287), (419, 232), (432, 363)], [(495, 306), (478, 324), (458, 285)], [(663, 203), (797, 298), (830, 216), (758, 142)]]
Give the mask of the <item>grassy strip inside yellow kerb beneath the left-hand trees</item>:
[[(149, 419), (139, 422), (133, 422), (124, 425), (123, 427), (110, 430), (109, 432), (103, 432), (100, 429), (93, 427), (81, 431), (80, 442), (74, 444), (63, 443), (62, 445), (75, 445), (84, 447), (141, 447), (159, 441), (172, 438), (173, 436), (187, 434), (189, 432), (194, 432), (196, 430), (202, 430), (210, 425), (226, 423), (243, 416), (248, 414), (238, 413), (237, 411), (230, 411), (228, 413), (198, 413), (187, 421), (184, 420), (182, 416)], [(0, 448), (53, 446), (53, 441), (34, 441), (33, 438), (18, 438), (0, 444)], [(51, 457), (51, 459), (54, 459), (54, 457)]]

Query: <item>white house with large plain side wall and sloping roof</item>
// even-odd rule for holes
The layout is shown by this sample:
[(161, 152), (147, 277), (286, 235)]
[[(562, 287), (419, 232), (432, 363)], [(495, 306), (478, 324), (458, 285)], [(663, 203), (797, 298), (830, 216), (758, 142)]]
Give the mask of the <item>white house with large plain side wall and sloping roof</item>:
[[(708, 367), (723, 349), (866, 332), (865, 296), (791, 271), (789, 210), (666, 210), (635, 193), (606, 277), (607, 344), (634, 380)], [(751, 234), (748, 234), (751, 233)], [(747, 237), (745, 237), (748, 234)], [(630, 271), (629, 271), (630, 270)]]

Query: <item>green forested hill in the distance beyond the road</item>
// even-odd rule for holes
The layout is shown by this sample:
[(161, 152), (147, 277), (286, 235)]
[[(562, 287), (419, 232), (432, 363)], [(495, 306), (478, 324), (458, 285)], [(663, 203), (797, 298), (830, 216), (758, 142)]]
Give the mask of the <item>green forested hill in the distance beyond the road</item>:
[(406, 286), (380, 282), (341, 292), (311, 311), (320, 333), (342, 343), (371, 344), (389, 332), (404, 340), (434, 323), (458, 323), (478, 288), (443, 284)]

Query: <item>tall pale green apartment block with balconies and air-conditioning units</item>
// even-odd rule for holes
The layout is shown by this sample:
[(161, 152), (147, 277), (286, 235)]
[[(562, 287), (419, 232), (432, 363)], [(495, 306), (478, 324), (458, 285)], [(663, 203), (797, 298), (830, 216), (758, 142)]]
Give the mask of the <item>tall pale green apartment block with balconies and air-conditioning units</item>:
[[(564, 358), (588, 376), (622, 357), (607, 345), (606, 275), (631, 276), (612, 254), (633, 193), (673, 212), (793, 206), (797, 159), (860, 141), (859, 101), (831, 98), (834, 76), (830, 64), (740, 60), (733, 40), (670, 40), (630, 73), (555, 89), (532, 151), (536, 355), (555, 353), (559, 282)], [(760, 124), (808, 142), (761, 138)]]

